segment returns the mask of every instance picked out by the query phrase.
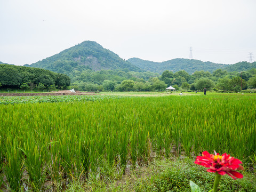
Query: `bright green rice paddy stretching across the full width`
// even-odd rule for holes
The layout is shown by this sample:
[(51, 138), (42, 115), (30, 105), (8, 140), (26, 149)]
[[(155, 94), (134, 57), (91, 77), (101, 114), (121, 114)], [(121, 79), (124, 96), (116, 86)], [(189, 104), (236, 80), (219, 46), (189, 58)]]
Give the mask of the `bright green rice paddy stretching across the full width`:
[[(254, 94), (0, 97), (0, 189), (43, 190), (207, 150), (255, 163)], [(46, 190), (46, 188), (45, 188)]]

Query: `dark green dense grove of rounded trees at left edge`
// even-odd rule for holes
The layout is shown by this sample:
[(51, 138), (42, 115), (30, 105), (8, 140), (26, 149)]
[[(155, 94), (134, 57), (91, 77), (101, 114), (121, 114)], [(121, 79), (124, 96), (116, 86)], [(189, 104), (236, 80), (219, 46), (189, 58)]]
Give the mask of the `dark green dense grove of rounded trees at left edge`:
[(49, 70), (0, 64), (0, 86), (2, 89), (49, 90), (67, 89), (70, 78)]

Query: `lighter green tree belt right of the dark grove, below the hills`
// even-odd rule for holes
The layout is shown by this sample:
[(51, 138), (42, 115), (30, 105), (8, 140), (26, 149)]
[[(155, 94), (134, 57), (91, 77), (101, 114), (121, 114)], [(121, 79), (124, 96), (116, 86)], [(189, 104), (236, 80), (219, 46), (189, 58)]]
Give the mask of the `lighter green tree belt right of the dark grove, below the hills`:
[(232, 71), (217, 69), (195, 71), (189, 75), (185, 70), (175, 73), (165, 70), (161, 75), (153, 72), (135, 72), (121, 70), (83, 70), (73, 71), (70, 75), (70, 87), (80, 91), (163, 91), (167, 86), (176, 90), (233, 91), (239, 92), (256, 88), (256, 69)]

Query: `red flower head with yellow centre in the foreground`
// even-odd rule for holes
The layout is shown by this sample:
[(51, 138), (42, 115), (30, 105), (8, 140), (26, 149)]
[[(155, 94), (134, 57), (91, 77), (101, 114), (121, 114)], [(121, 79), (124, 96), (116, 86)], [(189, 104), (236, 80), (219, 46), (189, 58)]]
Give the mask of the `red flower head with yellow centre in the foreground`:
[(220, 175), (228, 174), (231, 178), (243, 178), (243, 174), (237, 172), (236, 170), (244, 170), (239, 159), (230, 157), (230, 155), (216, 153), (214, 150), (214, 155), (204, 151), (202, 156), (197, 156), (195, 164), (203, 165), (204, 167), (210, 167), (207, 169), (208, 172), (217, 172)]

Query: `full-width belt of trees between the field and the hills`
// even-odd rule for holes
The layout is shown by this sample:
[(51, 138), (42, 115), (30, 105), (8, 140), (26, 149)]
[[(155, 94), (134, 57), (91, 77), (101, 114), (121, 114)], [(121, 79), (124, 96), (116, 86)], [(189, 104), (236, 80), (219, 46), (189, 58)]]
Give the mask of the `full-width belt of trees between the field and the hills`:
[[(71, 78), (71, 84), (70, 84)], [(70, 86), (69, 86), (70, 85)], [(239, 92), (241, 88), (256, 88), (256, 68), (244, 71), (222, 69), (195, 71), (189, 75), (180, 70), (165, 70), (161, 75), (153, 72), (127, 70), (74, 70), (70, 77), (49, 70), (0, 65), (0, 86), (13, 89), (75, 89), (79, 91), (163, 91), (172, 85), (176, 90)]]

